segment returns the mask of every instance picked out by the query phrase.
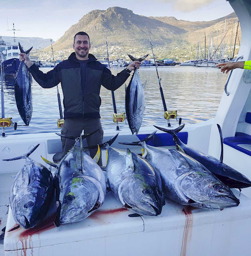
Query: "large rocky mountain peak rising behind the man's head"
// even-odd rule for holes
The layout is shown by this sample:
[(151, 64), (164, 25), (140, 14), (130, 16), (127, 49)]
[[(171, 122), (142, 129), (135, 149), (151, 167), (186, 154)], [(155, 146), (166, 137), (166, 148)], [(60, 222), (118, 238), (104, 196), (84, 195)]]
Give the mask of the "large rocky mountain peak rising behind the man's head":
[(74, 35), (79, 31), (89, 34), (94, 47), (104, 45), (105, 36), (110, 46), (146, 46), (149, 45), (150, 36), (156, 45), (165, 45), (180, 40), (179, 35), (187, 32), (160, 20), (134, 14), (125, 8), (111, 7), (86, 14), (54, 44), (54, 49), (71, 48)]

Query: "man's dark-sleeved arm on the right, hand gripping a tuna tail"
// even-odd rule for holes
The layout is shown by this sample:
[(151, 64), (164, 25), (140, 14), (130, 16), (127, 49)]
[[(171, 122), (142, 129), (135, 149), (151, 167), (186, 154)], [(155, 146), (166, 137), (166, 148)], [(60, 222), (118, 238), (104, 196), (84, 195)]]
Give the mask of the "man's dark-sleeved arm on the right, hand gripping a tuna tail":
[(140, 64), (141, 62), (139, 61), (131, 62), (131, 64), (127, 66), (127, 68), (122, 70), (120, 73), (118, 73), (117, 76), (112, 75), (112, 72), (108, 68), (105, 68), (102, 74), (102, 86), (111, 91), (117, 90), (118, 88), (120, 88), (120, 86), (122, 86), (122, 84), (124, 84), (124, 82), (130, 76), (129, 71), (132, 71), (135, 68), (139, 69)]

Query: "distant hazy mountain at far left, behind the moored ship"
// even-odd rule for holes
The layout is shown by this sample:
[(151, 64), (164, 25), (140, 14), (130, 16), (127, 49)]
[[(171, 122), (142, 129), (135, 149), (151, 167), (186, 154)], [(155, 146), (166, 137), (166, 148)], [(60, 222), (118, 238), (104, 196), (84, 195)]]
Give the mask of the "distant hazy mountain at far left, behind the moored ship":
[[(51, 44), (50, 39), (43, 39), (40, 37), (18, 37), (16, 38), (16, 43), (13, 41), (13, 37), (11, 36), (2, 36), (2, 39), (5, 42), (9, 42), (11, 44), (20, 44), (24, 46), (24, 49), (29, 49), (30, 47), (33, 46), (33, 49), (43, 49)], [(52, 43), (54, 44), (55, 42), (52, 40)]]

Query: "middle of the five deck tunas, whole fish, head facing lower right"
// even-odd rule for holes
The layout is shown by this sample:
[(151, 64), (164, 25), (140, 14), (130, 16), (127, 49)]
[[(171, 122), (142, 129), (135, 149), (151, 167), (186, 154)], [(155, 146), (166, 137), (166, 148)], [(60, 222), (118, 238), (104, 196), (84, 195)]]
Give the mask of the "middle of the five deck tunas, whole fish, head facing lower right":
[(118, 134), (100, 145), (108, 151), (107, 182), (117, 200), (128, 210), (140, 215), (157, 216), (165, 205), (159, 173), (147, 160), (129, 149), (110, 145)]

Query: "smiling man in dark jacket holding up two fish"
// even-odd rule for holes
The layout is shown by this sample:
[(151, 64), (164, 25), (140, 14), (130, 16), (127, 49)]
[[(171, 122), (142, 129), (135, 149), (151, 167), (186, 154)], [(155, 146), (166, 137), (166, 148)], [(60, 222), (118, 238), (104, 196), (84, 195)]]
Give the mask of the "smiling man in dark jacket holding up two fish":
[[(28, 67), (33, 78), (43, 88), (52, 88), (61, 82), (64, 94), (64, 126), (62, 134), (67, 136), (80, 136), (98, 129), (98, 132), (87, 138), (88, 146), (101, 144), (103, 130), (100, 123), (100, 86), (108, 90), (116, 90), (135, 68), (139, 68), (140, 62), (133, 61), (127, 68), (112, 75), (111, 71), (97, 59), (89, 54), (91, 44), (90, 37), (85, 32), (78, 32), (74, 36), (73, 52), (68, 60), (60, 62), (53, 70), (46, 74), (33, 64), (27, 54), (20, 53), (20, 61)], [(61, 137), (63, 153), (61, 159), (74, 145), (74, 141)], [(93, 158), (97, 150), (90, 150)], [(102, 159), (98, 162), (102, 166)]]

